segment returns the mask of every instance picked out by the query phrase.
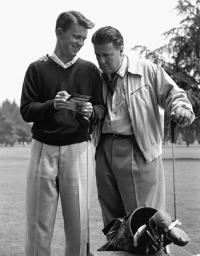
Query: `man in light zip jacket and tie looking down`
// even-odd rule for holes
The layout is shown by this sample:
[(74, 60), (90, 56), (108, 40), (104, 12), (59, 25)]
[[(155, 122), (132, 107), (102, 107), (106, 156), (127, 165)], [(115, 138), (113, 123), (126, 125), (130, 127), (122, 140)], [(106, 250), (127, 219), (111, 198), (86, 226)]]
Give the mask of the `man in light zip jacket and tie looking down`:
[(107, 83), (107, 112), (96, 150), (98, 198), (107, 225), (144, 205), (165, 209), (164, 110), (182, 126), (193, 122), (194, 112), (186, 93), (159, 65), (123, 53), (118, 29), (98, 29), (92, 43)]

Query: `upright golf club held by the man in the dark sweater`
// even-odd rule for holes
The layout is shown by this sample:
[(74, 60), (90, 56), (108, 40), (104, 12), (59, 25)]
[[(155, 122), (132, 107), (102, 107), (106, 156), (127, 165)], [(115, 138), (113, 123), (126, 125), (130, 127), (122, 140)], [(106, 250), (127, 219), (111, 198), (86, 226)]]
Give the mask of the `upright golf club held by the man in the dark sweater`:
[(90, 121), (88, 117), (82, 115), (75, 115), (75, 119), (84, 127), (86, 127), (86, 136), (87, 136), (87, 254), (90, 252), (89, 248), (89, 164), (88, 164), (88, 141), (89, 141), (89, 127)]

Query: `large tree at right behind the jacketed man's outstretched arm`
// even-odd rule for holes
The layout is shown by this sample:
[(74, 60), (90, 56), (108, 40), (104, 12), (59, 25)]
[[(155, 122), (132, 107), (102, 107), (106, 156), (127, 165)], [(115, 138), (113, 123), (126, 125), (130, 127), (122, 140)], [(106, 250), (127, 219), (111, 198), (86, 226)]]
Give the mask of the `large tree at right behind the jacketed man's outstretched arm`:
[[(172, 28), (163, 35), (166, 44), (155, 51), (137, 45), (132, 50), (162, 65), (180, 88), (187, 92), (196, 120), (187, 129), (180, 129), (184, 140), (194, 142), (195, 134), (200, 139), (200, 0), (179, 0), (174, 11), (183, 17), (178, 28)], [(165, 119), (165, 135), (169, 120)], [(194, 134), (193, 134), (194, 133)], [(190, 140), (186, 134), (190, 134)]]

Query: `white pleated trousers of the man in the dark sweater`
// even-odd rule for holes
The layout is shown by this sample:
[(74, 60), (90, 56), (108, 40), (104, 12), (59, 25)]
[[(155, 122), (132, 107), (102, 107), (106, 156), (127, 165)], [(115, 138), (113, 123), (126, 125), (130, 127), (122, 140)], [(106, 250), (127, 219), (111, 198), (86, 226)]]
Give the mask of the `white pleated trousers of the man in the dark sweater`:
[[(88, 142), (90, 199), (93, 161)], [(58, 198), (65, 230), (65, 256), (86, 256), (87, 142), (51, 146), (33, 140), (27, 171), (26, 256), (50, 256)]]

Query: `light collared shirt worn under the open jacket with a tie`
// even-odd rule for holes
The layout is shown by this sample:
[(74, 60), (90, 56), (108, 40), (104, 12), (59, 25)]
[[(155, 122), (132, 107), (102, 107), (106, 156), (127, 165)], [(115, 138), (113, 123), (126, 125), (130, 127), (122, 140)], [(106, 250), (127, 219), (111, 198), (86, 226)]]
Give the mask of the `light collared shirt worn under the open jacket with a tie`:
[(127, 73), (128, 58), (124, 56), (121, 67), (118, 69), (118, 80), (114, 95), (108, 90), (107, 93), (107, 113), (102, 126), (103, 133), (118, 133), (132, 135), (134, 131), (128, 113), (127, 102), (125, 99), (125, 88), (123, 79)]

